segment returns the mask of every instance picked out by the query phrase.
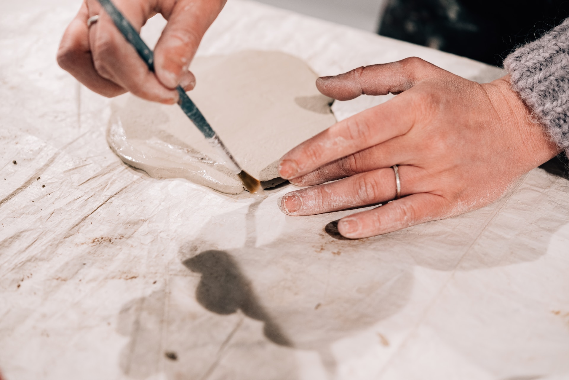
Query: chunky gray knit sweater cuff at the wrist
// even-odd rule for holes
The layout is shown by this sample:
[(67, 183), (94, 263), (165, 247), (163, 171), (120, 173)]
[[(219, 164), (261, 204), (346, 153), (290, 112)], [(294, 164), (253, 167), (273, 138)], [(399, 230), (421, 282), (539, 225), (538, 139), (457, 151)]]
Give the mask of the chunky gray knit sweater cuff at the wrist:
[(513, 89), (569, 154), (569, 18), (504, 60)]

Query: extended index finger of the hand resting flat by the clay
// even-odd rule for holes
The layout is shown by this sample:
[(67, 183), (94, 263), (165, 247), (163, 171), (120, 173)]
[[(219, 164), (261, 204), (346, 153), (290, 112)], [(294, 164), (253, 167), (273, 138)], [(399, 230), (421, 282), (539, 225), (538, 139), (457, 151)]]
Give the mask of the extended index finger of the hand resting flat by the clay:
[(279, 174), (292, 179), (333, 160), (407, 133), (415, 122), (409, 93), (347, 118), (299, 144), (279, 163)]

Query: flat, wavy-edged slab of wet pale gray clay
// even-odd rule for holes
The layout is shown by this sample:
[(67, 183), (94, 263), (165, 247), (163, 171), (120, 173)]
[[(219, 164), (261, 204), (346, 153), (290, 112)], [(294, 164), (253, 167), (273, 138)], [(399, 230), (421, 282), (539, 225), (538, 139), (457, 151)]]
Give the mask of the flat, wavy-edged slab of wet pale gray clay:
[[(191, 70), (197, 85), (189, 96), (265, 187), (279, 183), (281, 156), (336, 122), (332, 99), (316, 89), (316, 74), (285, 53), (199, 57)], [(151, 177), (185, 178), (229, 194), (244, 190), (178, 105), (124, 94), (112, 103), (107, 140), (125, 163)]]

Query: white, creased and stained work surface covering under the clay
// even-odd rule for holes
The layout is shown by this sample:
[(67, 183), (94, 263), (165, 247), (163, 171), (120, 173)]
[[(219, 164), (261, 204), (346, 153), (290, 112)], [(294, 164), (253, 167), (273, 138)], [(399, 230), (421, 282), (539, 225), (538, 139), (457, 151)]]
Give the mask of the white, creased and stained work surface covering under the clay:
[[(536, 169), (483, 209), (347, 241), (324, 226), (353, 211), (281, 213), (292, 185), (261, 199), (152, 179), (107, 146), (110, 101), (56, 65), (79, 3), (5, 2), (0, 15), (5, 380), (569, 378), (569, 181)], [(500, 76), (229, 0), (199, 54), (251, 48), (319, 75), (416, 55)]]

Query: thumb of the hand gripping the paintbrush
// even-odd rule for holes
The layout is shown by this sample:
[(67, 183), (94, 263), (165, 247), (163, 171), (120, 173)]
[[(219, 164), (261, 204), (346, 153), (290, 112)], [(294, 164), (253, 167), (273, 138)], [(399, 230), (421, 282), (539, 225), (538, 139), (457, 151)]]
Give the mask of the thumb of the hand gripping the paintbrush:
[[(168, 24), (154, 49), (154, 70), (164, 86), (175, 88), (180, 82), (191, 80), (189, 64), (225, 1), (180, 0), (171, 9), (160, 10)], [(187, 85), (185, 89), (189, 89)]]

